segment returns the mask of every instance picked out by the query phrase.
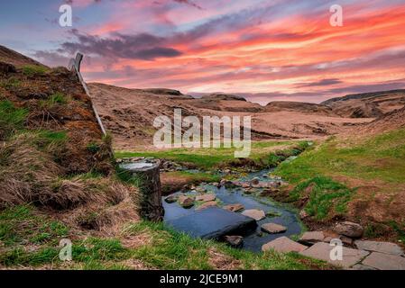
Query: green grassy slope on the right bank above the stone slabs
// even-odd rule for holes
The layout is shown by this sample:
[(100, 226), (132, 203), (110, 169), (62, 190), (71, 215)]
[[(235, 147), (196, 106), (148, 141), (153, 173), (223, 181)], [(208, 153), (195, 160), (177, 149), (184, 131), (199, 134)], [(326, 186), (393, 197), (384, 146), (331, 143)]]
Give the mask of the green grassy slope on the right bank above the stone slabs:
[[(330, 138), (307, 149), (294, 161), (282, 163), (274, 174), (296, 184), (290, 192), (291, 201), (309, 196), (305, 210), (318, 220), (327, 219), (330, 212), (345, 214), (347, 203), (355, 194), (355, 187), (337, 183), (334, 177), (364, 184), (376, 180), (382, 183), (382, 192), (400, 190), (400, 184), (405, 184), (404, 139), (403, 129), (367, 139)], [(309, 185), (312, 192), (306, 195)], [(375, 234), (372, 228), (369, 234)]]

